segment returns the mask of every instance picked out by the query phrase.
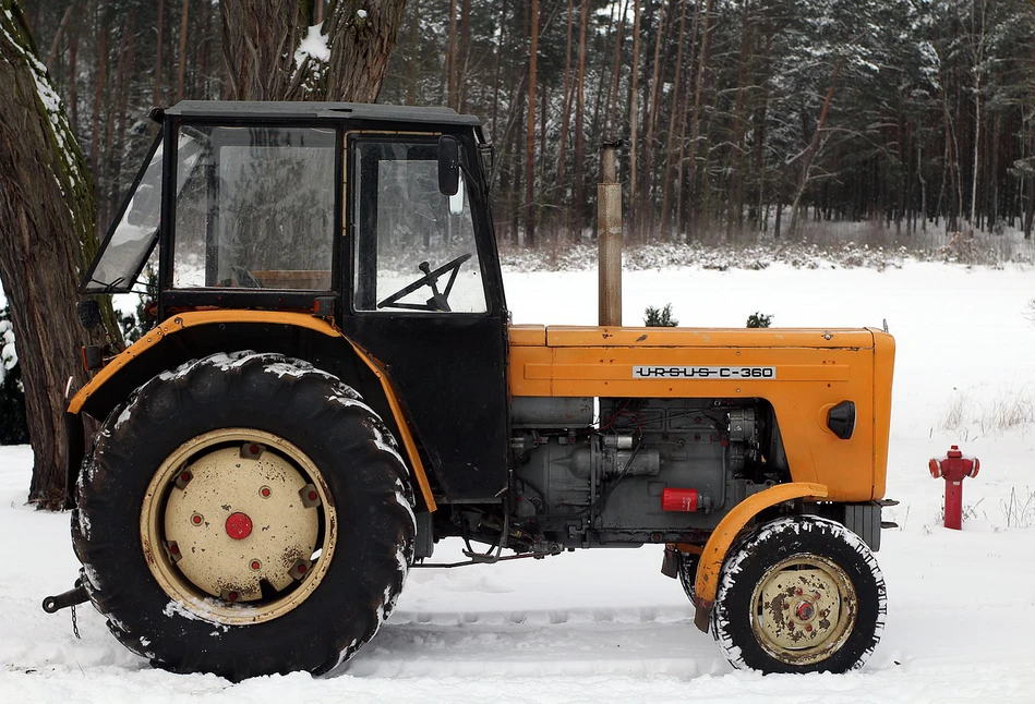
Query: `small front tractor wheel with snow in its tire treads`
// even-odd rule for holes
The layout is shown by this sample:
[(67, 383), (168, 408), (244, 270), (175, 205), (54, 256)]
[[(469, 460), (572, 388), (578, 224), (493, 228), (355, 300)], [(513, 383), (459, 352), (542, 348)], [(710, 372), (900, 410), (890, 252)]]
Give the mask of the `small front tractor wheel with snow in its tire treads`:
[(844, 672), (880, 640), (884, 580), (852, 531), (814, 515), (755, 529), (723, 565), (712, 632), (737, 668)]

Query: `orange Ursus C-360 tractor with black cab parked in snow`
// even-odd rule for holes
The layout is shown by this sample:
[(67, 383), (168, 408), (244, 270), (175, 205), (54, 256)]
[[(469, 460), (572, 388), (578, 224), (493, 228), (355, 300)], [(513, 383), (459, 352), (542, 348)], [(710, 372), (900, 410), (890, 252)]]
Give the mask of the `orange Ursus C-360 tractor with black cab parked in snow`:
[(736, 667), (842, 672), (874, 651), (887, 329), (514, 325), (477, 118), (152, 118), (81, 292), (131, 292), (156, 262), (155, 325), (83, 349), (82, 570), (48, 611), (88, 600), (177, 672), (322, 673), (444, 538), (473, 566), (654, 544)]

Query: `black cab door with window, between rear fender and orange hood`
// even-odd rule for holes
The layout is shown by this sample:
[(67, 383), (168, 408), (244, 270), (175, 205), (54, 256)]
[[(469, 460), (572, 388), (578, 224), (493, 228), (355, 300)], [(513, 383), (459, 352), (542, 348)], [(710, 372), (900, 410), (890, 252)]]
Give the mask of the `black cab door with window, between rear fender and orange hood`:
[(445, 500), (498, 501), (509, 472), (500, 265), (477, 160), (461, 157), (460, 191), (443, 195), (437, 136), (347, 138), (342, 328), (386, 366)]

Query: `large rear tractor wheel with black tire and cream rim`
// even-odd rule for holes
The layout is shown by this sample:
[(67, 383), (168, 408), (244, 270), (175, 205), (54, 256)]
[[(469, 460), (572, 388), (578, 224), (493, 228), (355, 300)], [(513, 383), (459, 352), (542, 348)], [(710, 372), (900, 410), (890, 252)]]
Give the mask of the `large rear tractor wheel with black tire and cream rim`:
[(72, 538), (131, 651), (231, 680), (351, 657), (413, 558), (412, 490), (356, 391), (239, 352), (164, 373), (116, 408), (84, 463)]

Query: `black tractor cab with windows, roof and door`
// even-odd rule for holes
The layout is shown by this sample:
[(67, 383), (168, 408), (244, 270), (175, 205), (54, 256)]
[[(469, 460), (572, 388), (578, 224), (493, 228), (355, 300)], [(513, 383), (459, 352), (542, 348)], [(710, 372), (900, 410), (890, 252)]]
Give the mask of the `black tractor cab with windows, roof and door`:
[(130, 292), (156, 258), (159, 325), (212, 309), (332, 321), (388, 371), (448, 499), (498, 500), (507, 312), (478, 120), (313, 102), (184, 101), (155, 117), (82, 292)]

